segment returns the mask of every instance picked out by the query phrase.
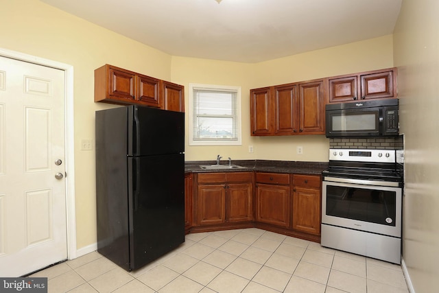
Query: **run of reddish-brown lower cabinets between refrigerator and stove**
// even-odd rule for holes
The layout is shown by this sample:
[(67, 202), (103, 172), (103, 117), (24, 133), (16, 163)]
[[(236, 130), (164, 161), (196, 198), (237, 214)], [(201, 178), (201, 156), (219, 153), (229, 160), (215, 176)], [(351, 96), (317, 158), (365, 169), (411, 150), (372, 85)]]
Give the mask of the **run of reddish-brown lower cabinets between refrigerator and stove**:
[(320, 242), (319, 175), (198, 173), (193, 186), (193, 213), (187, 213), (186, 220), (189, 224), (193, 215), (193, 222), (187, 231), (257, 227)]

